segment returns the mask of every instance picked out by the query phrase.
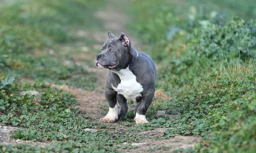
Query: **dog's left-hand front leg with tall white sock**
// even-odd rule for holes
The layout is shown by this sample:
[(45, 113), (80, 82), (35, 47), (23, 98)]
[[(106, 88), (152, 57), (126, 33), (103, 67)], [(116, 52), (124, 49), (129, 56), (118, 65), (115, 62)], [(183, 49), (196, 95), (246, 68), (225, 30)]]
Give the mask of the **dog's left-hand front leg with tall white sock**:
[(113, 123), (118, 118), (118, 111), (119, 111), (119, 107), (116, 103), (116, 92), (105, 91), (104, 94), (105, 94), (105, 98), (108, 101), (109, 110), (107, 115), (99, 119), (99, 121), (105, 122), (105, 123)]

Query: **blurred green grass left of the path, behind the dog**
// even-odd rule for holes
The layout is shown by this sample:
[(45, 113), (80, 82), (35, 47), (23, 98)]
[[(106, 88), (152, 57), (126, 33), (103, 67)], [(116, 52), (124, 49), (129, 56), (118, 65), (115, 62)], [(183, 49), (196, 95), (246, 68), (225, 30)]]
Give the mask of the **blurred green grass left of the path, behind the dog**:
[[(1, 5), (0, 70), (4, 74), (0, 76), (25, 77), (87, 90), (95, 88), (93, 73), (77, 66), (74, 60), (64, 65), (67, 57), (63, 56), (60, 43), (86, 41), (76, 36), (74, 30), (78, 28), (101, 28), (99, 20), (89, 21), (89, 17), (102, 4), (82, 0), (63, 0), (61, 4), (48, 0), (15, 0)], [(50, 49), (55, 52), (50, 54)], [(74, 45), (71, 49), (79, 52)]]

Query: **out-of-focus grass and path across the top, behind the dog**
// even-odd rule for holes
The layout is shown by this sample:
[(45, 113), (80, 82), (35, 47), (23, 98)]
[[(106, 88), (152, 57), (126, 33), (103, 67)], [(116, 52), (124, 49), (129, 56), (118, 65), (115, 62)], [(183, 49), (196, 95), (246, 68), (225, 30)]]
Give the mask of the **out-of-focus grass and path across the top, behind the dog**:
[[(173, 52), (181, 54), (187, 47), (189, 35), (208, 23), (224, 26), (236, 16), (245, 21), (256, 17), (254, 0), (1, 0), (0, 4), (1, 75), (84, 88), (93, 86), (84, 81), (96, 79), (81, 64), (94, 65), (92, 59), (109, 30), (127, 33), (134, 47), (140, 44), (137, 50), (168, 64)], [(72, 78), (74, 74), (88, 77), (80, 82)]]

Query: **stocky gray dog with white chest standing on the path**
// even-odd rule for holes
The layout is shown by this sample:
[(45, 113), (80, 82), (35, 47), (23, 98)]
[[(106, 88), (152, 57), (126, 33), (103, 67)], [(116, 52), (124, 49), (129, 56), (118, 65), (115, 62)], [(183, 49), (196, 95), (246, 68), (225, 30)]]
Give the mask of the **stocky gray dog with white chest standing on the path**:
[(134, 109), (136, 124), (148, 123), (145, 115), (154, 98), (157, 76), (153, 59), (136, 51), (125, 33), (116, 37), (108, 31), (108, 40), (102, 45), (102, 52), (96, 55), (96, 66), (110, 70), (104, 86), (109, 111), (100, 121), (113, 123), (124, 119), (128, 111), (127, 101), (133, 101), (137, 102)]

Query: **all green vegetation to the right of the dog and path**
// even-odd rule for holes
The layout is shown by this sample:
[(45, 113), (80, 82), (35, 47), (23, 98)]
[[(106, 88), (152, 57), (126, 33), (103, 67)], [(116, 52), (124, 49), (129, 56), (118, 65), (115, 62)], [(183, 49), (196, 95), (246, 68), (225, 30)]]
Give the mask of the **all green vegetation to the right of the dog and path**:
[[(243, 6), (238, 13), (243, 17), (255, 10), (250, 7), (252, 1), (236, 1), (236, 7)], [(195, 150), (174, 152), (253, 152), (256, 22), (247, 17), (246, 21), (239, 17), (227, 20), (236, 12), (221, 4), (230, 1), (186, 2), (136, 1), (145, 12), (135, 10), (139, 15), (133, 20), (138, 24), (132, 27), (143, 42), (150, 43), (152, 55), (161, 65), (156, 87), (173, 97), (154, 109), (165, 110), (166, 115), (178, 114), (178, 119), (150, 115), (151, 122), (139, 127), (172, 127), (166, 130), (166, 138), (160, 139), (177, 133), (203, 136)], [(191, 6), (194, 2), (207, 5)], [(224, 7), (227, 16), (210, 9), (217, 6)], [(189, 9), (184, 11), (186, 7)]]

